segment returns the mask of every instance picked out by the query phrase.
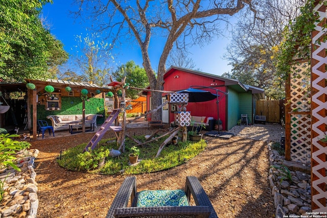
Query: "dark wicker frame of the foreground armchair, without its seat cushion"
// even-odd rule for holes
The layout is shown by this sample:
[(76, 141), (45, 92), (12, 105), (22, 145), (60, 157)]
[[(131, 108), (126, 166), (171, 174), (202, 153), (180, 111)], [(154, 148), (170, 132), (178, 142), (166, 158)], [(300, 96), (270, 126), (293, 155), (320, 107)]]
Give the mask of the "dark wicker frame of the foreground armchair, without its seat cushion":
[[(186, 177), (185, 195), (190, 202), (191, 195), (196, 206), (149, 206), (136, 207), (138, 192), (136, 178), (127, 177), (113, 199), (106, 218), (112, 217), (211, 217), (218, 218), (199, 180)], [(127, 207), (130, 201), (131, 207)]]

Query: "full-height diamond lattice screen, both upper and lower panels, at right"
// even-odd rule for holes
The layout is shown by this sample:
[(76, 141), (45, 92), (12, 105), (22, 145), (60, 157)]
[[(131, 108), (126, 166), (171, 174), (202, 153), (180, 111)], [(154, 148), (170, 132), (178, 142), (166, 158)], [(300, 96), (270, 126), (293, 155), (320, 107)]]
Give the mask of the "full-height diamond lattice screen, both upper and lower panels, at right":
[(291, 126), (290, 146), (291, 160), (310, 163), (311, 146), (311, 100), (310, 100), (310, 66), (308, 62), (294, 64), (290, 75)]

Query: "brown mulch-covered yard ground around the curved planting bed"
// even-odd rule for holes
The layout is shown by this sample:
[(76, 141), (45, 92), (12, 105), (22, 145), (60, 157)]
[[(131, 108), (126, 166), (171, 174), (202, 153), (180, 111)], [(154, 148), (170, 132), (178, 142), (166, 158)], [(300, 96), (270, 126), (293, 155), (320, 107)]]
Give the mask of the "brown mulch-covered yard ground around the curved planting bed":
[[(155, 130), (155, 129), (154, 129)], [(130, 135), (152, 129), (130, 128)], [(94, 133), (31, 141), (40, 151), (36, 160), (38, 217), (105, 217), (127, 175), (68, 172), (58, 166), (60, 151), (88, 142)], [(107, 132), (106, 137), (113, 137)], [(267, 180), (267, 142), (235, 136), (205, 136), (203, 153), (167, 171), (136, 175), (137, 190), (184, 188), (186, 176), (196, 176), (218, 216), (273, 217), (273, 198)]]

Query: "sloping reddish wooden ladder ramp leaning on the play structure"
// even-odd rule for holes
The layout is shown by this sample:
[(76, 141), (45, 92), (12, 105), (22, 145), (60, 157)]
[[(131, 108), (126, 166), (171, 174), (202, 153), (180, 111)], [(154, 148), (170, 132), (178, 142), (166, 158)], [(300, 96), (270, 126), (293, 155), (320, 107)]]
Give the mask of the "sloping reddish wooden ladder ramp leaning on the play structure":
[[(122, 127), (115, 127), (111, 124), (114, 122), (114, 120), (118, 117), (121, 109), (113, 109), (108, 118), (105, 120), (105, 122), (102, 124), (102, 126), (99, 128), (98, 132), (91, 138), (91, 140), (88, 142), (87, 146), (83, 150), (83, 152), (86, 152), (89, 150), (89, 147), (91, 147), (91, 150), (94, 150), (98, 144), (98, 142), (102, 139), (103, 135), (107, 132), (108, 129), (113, 130), (116, 134), (116, 132), (119, 132), (122, 130)], [(116, 135), (117, 136), (117, 135)]]

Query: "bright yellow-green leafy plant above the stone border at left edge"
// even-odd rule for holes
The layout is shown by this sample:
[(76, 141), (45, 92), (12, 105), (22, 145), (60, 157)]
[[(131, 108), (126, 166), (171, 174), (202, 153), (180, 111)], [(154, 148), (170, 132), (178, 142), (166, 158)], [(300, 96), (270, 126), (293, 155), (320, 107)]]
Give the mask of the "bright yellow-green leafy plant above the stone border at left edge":
[(29, 143), (20, 143), (19, 141), (12, 140), (11, 137), (19, 137), (16, 134), (0, 134), (0, 166), (6, 167), (10, 165), (16, 171), (20, 171), (20, 168), (13, 163), (13, 160), (16, 159), (16, 151), (20, 151), (29, 147)]

